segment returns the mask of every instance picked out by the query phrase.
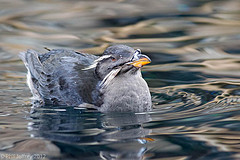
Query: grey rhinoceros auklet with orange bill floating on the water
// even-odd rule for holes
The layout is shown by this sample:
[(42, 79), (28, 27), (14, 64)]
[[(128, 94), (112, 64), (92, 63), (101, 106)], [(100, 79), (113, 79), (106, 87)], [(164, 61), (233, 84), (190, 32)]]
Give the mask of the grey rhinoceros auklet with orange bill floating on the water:
[(126, 45), (108, 47), (102, 56), (67, 49), (41, 54), (21, 52), (34, 100), (43, 105), (92, 104), (102, 112), (145, 112), (151, 95), (141, 67), (150, 58)]

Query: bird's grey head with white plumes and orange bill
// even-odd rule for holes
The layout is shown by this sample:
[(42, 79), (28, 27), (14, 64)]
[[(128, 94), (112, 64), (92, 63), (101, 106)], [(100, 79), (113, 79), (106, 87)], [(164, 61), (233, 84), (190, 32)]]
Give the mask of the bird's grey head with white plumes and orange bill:
[(150, 58), (142, 54), (140, 49), (113, 45), (108, 47), (92, 66), (96, 67), (95, 72), (102, 81), (100, 86), (104, 87), (116, 76), (126, 73), (135, 74), (150, 62)]

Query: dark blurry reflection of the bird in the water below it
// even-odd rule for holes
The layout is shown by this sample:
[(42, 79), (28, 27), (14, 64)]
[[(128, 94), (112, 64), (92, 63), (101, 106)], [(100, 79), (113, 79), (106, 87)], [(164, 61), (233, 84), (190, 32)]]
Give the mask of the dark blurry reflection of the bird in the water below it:
[(142, 127), (151, 121), (145, 113), (102, 114), (69, 106), (49, 106), (34, 108), (31, 116), (32, 136), (52, 141), (67, 156), (92, 154), (105, 159), (141, 159), (146, 144), (153, 141), (148, 138), (151, 129)]

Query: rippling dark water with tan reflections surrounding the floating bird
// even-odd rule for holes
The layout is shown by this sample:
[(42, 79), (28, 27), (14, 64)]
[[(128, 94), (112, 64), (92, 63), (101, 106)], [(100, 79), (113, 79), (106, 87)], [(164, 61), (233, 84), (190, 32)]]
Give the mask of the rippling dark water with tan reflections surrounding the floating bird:
[[(140, 48), (151, 113), (31, 110), (17, 54)], [(0, 159), (240, 159), (240, 1), (0, 0)]]

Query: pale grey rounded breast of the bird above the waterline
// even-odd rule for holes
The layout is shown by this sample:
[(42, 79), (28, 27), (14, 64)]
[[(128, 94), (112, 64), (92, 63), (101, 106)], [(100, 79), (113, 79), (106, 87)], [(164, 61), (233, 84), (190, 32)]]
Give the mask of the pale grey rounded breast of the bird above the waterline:
[(151, 95), (141, 72), (116, 76), (104, 89), (101, 111), (133, 111), (151, 110)]

